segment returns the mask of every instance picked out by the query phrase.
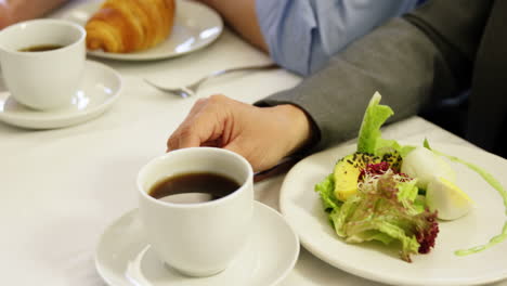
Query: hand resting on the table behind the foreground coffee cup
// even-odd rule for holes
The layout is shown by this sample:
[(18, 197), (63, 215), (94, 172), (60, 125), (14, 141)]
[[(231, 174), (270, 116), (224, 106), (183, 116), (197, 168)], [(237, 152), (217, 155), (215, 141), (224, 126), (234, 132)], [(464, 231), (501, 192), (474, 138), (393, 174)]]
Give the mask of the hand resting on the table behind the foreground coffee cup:
[(300, 148), (310, 139), (310, 121), (290, 105), (257, 107), (224, 95), (195, 103), (167, 142), (168, 151), (214, 146), (244, 156), (261, 171)]

